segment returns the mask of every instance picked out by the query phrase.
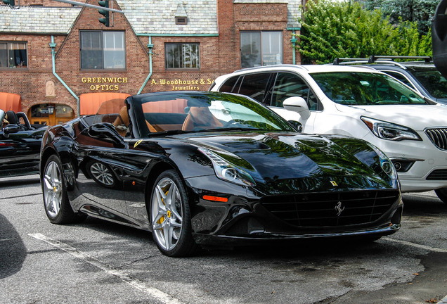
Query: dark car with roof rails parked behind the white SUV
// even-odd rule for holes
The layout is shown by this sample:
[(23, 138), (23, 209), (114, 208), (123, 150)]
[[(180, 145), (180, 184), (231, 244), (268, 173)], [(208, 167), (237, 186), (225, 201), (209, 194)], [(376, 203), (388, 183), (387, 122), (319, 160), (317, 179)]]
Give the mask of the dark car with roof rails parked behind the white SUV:
[[(401, 60), (397, 62), (396, 60)], [(407, 61), (403, 61), (407, 60)], [(414, 61), (408, 61), (414, 60)], [(422, 96), (447, 104), (447, 80), (429, 56), (370, 56), (370, 58), (337, 58), (335, 64), (368, 65), (391, 75)]]

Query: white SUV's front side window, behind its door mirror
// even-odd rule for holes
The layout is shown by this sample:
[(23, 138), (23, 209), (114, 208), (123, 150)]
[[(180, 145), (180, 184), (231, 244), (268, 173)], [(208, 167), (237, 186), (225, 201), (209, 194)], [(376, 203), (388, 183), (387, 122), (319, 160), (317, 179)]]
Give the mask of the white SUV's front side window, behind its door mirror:
[(289, 97), (302, 97), (309, 110), (318, 110), (318, 100), (309, 86), (298, 75), (280, 72), (276, 77), (271, 106), (282, 107), (283, 101)]

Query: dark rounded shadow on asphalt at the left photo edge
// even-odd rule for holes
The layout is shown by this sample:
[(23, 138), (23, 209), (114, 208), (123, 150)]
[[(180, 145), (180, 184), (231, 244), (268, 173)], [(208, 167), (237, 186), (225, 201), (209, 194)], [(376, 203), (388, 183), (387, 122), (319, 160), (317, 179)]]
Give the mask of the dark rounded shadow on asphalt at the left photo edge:
[(4, 215), (0, 214), (0, 279), (9, 277), (22, 268), (27, 248), (18, 232)]

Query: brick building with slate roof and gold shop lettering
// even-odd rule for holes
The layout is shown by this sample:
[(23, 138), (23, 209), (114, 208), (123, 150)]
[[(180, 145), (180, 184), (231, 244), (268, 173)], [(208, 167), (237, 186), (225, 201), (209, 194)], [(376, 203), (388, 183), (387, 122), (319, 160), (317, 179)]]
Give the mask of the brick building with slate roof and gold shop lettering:
[(292, 44), (300, 4), (110, 0), (110, 8), (124, 13), (110, 12), (108, 27), (98, 21), (98, 9), (75, 3), (0, 5), (0, 107), (6, 95), (17, 96), (15, 110), (55, 125), (95, 113), (107, 99), (206, 90), (240, 68), (299, 63)]

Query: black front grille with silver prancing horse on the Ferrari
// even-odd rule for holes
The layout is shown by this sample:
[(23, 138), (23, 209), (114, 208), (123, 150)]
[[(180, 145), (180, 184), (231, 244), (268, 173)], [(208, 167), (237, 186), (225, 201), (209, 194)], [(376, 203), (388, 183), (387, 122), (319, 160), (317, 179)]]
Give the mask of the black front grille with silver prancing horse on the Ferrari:
[(374, 222), (399, 195), (398, 190), (382, 190), (266, 196), (261, 205), (297, 227), (337, 227)]

